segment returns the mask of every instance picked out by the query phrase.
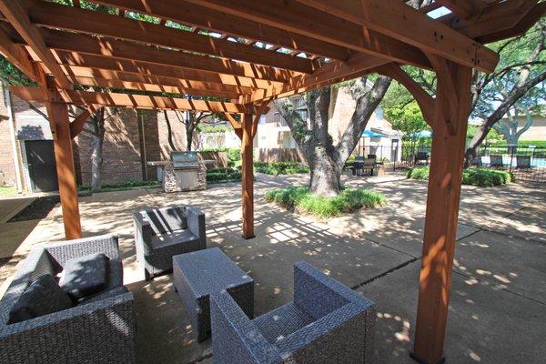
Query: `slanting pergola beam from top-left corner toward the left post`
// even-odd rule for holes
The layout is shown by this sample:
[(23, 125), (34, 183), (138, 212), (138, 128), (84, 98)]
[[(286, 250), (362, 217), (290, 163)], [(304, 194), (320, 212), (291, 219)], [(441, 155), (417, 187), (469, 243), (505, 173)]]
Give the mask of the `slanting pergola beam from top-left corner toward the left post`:
[(63, 88), (71, 88), (72, 84), (56, 63), (55, 57), (47, 49), (44, 38), (38, 31), (38, 28), (30, 22), (25, 8), (19, 0), (0, 0), (0, 11), (19, 35), (25, 39), (25, 43), (30, 45), (35, 54), (40, 57), (49, 71), (56, 76), (56, 82)]

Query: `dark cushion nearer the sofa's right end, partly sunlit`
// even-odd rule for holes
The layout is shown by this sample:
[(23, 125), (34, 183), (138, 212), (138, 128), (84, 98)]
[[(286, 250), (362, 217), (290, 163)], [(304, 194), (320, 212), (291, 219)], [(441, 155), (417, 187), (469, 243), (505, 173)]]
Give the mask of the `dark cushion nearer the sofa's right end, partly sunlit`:
[(107, 265), (104, 253), (66, 260), (59, 286), (74, 299), (84, 298), (106, 288)]

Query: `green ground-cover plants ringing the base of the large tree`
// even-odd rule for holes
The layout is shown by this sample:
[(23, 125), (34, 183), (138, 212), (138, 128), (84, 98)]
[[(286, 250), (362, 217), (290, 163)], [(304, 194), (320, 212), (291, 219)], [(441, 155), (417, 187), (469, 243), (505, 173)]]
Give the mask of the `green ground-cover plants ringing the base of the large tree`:
[(380, 207), (386, 199), (379, 192), (367, 189), (344, 189), (335, 197), (320, 197), (309, 192), (308, 187), (288, 187), (266, 192), (266, 200), (291, 211), (326, 218), (352, 213), (361, 208)]

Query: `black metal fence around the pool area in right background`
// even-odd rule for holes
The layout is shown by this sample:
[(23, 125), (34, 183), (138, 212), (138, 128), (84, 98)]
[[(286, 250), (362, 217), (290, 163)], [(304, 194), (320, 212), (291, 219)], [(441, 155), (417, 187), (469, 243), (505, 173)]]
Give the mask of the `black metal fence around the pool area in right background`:
[[(358, 155), (394, 170), (430, 164), (428, 146), (359, 146)], [(470, 165), (509, 171), (517, 181), (546, 182), (546, 147), (480, 147)]]

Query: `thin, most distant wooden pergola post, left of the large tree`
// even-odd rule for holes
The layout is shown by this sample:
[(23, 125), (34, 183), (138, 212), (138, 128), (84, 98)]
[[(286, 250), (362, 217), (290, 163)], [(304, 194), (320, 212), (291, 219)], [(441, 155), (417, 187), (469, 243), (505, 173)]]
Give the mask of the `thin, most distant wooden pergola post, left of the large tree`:
[[(259, 117), (258, 117), (259, 118)], [(241, 120), (241, 156), (243, 187), (243, 238), (254, 238), (254, 156), (252, 154), (253, 116), (244, 114)]]

